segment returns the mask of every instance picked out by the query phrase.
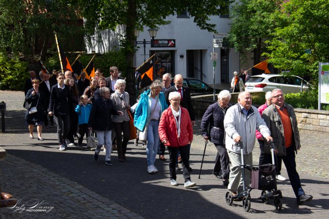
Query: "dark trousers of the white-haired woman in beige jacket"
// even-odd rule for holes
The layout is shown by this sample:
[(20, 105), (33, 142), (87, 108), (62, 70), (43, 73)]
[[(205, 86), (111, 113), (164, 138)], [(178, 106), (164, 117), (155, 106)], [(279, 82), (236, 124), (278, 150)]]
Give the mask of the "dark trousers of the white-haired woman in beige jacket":
[[(129, 121), (113, 122), (113, 130), (115, 132), (115, 137), (117, 142), (118, 157), (123, 158), (127, 151), (127, 143), (130, 137)], [(123, 140), (122, 140), (122, 133), (123, 133)]]

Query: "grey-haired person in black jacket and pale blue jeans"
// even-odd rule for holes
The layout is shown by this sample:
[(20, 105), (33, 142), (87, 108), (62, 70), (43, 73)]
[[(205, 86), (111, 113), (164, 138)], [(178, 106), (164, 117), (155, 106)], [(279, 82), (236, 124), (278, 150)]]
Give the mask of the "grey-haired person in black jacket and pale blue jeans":
[(112, 115), (123, 115), (121, 111), (116, 111), (110, 96), (108, 87), (101, 87), (99, 89), (101, 98), (95, 100), (92, 106), (92, 111), (89, 115), (88, 129), (96, 131), (98, 143), (94, 154), (94, 160), (98, 160), (99, 152), (102, 145), (106, 147), (105, 164), (113, 165), (111, 162), (112, 152)]

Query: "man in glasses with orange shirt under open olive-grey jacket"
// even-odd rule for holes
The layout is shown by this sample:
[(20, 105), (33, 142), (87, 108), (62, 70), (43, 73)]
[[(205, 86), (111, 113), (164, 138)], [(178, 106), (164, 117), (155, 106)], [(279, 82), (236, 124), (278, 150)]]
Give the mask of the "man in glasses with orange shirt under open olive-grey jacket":
[(283, 160), (290, 179), (291, 187), (297, 197), (297, 204), (312, 200), (312, 195), (306, 195), (296, 170), (295, 152), (300, 149), (300, 138), (294, 108), (284, 103), (281, 89), (272, 90), (272, 105), (268, 106), (262, 117), (271, 131), (276, 147), (277, 162)]

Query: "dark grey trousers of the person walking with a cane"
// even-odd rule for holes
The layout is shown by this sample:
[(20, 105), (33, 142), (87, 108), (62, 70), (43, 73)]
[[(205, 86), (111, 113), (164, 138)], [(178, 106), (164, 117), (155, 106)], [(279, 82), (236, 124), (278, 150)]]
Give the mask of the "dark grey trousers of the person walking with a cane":
[(223, 179), (228, 179), (230, 176), (229, 157), (225, 145), (215, 144), (217, 155), (215, 159), (215, 166), (213, 174), (217, 175), (222, 170)]

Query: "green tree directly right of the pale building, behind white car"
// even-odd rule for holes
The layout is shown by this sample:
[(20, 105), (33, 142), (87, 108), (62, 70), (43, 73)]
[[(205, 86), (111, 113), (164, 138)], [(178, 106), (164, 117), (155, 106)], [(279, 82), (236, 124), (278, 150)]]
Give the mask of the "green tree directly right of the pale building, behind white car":
[(270, 16), (278, 10), (282, 0), (241, 0), (230, 9), (231, 29), (229, 42), (246, 59), (246, 52), (253, 52), (254, 65), (261, 61), (266, 51), (266, 40), (275, 28)]

